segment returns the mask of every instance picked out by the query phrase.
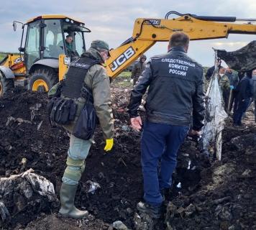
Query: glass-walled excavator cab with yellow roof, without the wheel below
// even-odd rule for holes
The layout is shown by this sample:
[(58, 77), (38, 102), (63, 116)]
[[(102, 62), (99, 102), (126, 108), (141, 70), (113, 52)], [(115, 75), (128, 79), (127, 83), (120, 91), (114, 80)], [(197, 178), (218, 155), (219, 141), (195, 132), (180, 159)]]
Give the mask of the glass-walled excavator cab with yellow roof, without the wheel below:
[[(84, 27), (83, 23), (68, 17), (40, 16), (29, 20), (24, 46), (27, 70), (30, 70), (38, 60), (53, 59), (54, 62), (61, 54), (68, 57), (81, 55), (86, 50), (84, 32), (90, 30)], [(70, 45), (66, 42), (68, 35), (72, 37)]]

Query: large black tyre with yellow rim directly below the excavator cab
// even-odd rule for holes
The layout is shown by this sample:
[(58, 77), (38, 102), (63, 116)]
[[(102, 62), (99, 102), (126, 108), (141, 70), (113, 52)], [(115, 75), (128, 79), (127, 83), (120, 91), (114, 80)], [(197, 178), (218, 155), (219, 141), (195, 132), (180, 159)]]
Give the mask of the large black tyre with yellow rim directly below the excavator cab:
[(53, 70), (39, 68), (29, 77), (29, 90), (47, 92), (58, 83), (58, 77)]

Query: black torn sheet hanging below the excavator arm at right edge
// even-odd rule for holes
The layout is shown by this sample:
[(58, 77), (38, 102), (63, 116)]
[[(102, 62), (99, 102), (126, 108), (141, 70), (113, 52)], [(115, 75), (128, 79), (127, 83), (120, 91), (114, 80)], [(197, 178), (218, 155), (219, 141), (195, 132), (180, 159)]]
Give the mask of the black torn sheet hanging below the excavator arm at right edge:
[(217, 55), (233, 70), (247, 72), (256, 68), (256, 40), (233, 52), (217, 50)]

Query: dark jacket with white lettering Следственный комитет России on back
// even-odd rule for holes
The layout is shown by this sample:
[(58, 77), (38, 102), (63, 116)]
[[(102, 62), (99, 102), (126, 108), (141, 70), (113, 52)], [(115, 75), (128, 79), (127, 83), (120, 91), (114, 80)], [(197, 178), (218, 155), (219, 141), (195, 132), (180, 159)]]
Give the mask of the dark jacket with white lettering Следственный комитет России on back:
[(142, 96), (146, 98), (147, 121), (189, 126), (204, 126), (204, 70), (183, 47), (172, 47), (167, 54), (152, 57), (131, 93), (131, 117), (138, 116)]

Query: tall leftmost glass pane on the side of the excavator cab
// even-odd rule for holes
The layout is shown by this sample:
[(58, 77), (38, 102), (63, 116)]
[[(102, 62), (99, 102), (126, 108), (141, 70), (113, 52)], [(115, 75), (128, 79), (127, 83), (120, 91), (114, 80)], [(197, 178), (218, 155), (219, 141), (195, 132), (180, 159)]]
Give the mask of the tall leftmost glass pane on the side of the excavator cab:
[(27, 70), (40, 59), (41, 28), (40, 21), (32, 22), (27, 27), (27, 39), (24, 51), (24, 62)]

